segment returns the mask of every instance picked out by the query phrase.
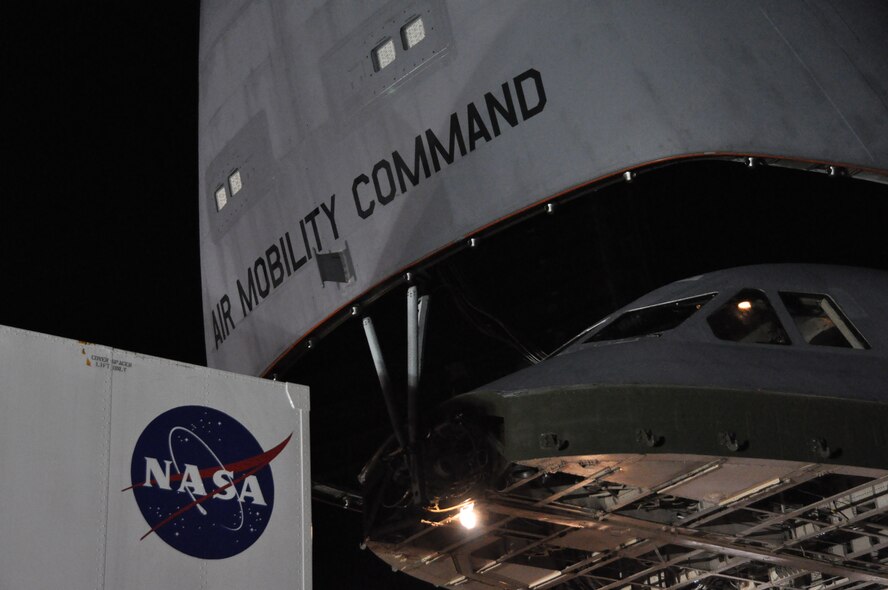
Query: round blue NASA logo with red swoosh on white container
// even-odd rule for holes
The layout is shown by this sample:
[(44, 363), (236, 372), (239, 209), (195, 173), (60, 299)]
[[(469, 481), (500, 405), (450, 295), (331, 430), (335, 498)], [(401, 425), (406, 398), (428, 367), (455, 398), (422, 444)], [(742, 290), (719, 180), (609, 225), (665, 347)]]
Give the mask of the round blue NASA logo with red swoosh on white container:
[(151, 421), (133, 450), (132, 491), (150, 526), (171, 547), (225, 559), (255, 543), (274, 508), (269, 463), (290, 442), (263, 451), (231, 416), (181, 406)]

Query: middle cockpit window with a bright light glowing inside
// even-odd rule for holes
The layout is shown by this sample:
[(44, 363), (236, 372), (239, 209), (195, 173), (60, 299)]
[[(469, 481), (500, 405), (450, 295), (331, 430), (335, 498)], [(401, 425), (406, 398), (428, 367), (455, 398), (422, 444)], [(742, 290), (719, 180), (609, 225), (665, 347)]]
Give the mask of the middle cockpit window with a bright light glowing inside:
[(743, 289), (706, 318), (716, 337), (733, 342), (790, 344), (767, 296), (758, 289)]

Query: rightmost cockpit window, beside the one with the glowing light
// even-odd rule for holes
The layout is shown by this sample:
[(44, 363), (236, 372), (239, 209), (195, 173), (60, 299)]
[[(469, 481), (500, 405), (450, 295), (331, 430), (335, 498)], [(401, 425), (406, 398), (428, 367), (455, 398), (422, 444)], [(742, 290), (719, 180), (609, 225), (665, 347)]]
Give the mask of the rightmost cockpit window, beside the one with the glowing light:
[(828, 295), (781, 292), (780, 298), (808, 344), (869, 348), (863, 336)]

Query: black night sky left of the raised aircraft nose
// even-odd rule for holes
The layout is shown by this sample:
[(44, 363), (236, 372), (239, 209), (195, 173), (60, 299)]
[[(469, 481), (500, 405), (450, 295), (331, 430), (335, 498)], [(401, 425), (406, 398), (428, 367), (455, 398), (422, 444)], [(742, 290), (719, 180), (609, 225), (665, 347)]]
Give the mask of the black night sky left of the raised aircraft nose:
[(204, 363), (198, 4), (4, 21), (0, 323)]

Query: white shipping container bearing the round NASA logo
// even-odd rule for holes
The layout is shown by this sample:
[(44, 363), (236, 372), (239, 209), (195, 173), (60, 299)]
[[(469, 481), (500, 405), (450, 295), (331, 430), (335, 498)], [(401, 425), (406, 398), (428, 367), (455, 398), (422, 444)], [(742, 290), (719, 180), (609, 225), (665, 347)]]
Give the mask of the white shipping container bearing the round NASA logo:
[(0, 326), (0, 588), (310, 588), (308, 388)]

